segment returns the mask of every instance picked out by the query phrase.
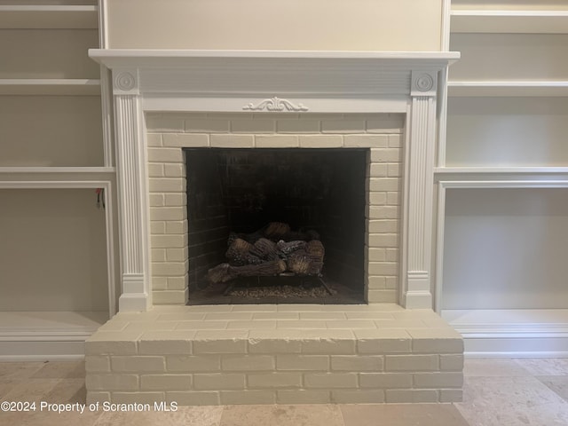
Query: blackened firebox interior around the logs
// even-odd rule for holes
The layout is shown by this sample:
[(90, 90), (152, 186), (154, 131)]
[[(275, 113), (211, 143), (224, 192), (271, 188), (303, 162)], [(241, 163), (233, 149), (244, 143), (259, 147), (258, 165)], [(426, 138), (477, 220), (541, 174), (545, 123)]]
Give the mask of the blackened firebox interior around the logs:
[[(189, 304), (364, 302), (366, 149), (184, 151)], [(235, 238), (254, 242), (251, 234), (264, 236), (275, 224), (321, 241), (325, 256), (317, 276), (254, 276), (255, 268), (266, 267), (248, 265), (253, 276), (211, 282), (211, 269), (229, 262), (225, 253)], [(272, 235), (272, 243), (277, 240)]]

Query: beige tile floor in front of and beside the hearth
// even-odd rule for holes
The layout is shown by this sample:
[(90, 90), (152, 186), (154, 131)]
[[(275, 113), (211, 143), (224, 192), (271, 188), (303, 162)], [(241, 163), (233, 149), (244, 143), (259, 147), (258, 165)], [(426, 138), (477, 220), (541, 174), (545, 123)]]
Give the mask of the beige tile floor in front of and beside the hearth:
[(176, 412), (47, 412), (84, 403), (83, 362), (0, 363), (0, 399), (36, 412), (0, 412), (0, 425), (566, 426), (568, 359), (468, 359), (460, 404), (180, 406)]

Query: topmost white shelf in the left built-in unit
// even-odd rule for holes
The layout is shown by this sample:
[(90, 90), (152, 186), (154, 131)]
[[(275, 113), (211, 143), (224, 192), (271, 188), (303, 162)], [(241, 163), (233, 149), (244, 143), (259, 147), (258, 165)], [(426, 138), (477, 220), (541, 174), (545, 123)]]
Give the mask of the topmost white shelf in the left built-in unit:
[(0, 4), (0, 28), (2, 29), (95, 29), (98, 27), (97, 6)]

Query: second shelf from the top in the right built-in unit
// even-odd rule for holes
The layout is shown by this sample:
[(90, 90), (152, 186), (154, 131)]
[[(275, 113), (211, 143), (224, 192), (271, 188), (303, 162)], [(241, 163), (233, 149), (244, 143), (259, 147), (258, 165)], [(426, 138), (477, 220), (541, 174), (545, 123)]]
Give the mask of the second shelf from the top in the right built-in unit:
[(568, 81), (450, 81), (452, 97), (564, 97)]

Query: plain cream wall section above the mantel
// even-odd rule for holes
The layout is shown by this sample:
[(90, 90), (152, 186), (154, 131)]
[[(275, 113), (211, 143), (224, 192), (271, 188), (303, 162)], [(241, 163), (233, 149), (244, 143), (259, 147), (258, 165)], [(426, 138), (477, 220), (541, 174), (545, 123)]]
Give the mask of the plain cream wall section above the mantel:
[(441, 0), (108, 0), (110, 47), (439, 51)]

